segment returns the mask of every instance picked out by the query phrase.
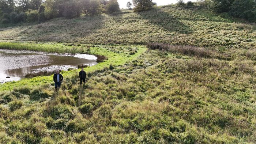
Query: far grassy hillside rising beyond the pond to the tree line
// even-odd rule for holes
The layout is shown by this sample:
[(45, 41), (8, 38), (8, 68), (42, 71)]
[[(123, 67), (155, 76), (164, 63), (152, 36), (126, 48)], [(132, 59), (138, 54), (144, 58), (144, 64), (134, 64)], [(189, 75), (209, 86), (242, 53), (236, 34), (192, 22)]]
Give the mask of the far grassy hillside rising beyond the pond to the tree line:
[(233, 23), (208, 10), (174, 7), (116, 16), (54, 19), (41, 24), (2, 28), (0, 39), (90, 44), (146, 44), (162, 42), (194, 46), (255, 47), (256, 27)]

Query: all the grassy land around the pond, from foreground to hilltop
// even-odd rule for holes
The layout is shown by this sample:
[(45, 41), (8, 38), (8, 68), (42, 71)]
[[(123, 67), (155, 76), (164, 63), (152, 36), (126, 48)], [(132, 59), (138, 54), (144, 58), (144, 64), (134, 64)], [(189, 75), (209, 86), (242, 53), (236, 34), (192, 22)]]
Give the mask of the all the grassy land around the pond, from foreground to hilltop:
[(1, 28), (0, 48), (108, 60), (82, 86), (0, 85), (0, 143), (256, 143), (256, 27), (233, 22), (166, 7)]

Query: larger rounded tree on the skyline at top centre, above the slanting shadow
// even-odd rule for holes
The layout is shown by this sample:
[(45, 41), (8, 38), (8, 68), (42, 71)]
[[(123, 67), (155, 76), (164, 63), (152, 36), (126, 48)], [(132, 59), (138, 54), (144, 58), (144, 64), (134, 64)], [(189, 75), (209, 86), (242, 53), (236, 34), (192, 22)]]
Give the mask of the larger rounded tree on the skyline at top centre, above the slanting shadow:
[(148, 11), (152, 9), (152, 0), (132, 0), (135, 12)]

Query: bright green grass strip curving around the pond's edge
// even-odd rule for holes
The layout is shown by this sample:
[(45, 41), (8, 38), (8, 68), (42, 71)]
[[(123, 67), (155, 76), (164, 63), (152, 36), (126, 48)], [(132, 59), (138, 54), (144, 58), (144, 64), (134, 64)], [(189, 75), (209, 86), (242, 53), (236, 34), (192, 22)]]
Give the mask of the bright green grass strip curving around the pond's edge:
[[(55, 53), (87, 53), (94, 55), (103, 55), (107, 57), (107, 60), (98, 63), (92, 67), (84, 68), (86, 72), (93, 72), (100, 70), (104, 67), (109, 67), (112, 65), (123, 65), (127, 61), (132, 61), (140, 54), (146, 51), (145, 46), (91, 46), (87, 49), (86, 45), (68, 45), (63, 43), (10, 43), (1, 42), (0, 49), (16, 49), (16, 50), (34, 50), (41, 52), (55, 52)], [(68, 77), (74, 73), (77, 73), (79, 69), (72, 71), (63, 72), (63, 76)], [(22, 79), (17, 82), (8, 82), (0, 85), (0, 91), (12, 90), (19, 86), (39, 86), (45, 83), (53, 83), (52, 76), (38, 76), (31, 79)]]

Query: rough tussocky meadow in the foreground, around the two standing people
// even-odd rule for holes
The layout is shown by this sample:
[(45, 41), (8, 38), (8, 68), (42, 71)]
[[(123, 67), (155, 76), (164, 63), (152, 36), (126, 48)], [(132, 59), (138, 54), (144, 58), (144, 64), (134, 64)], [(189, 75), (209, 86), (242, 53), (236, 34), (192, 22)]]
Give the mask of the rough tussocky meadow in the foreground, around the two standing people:
[(1, 143), (256, 143), (255, 50), (147, 47), (82, 86), (1, 93)]

